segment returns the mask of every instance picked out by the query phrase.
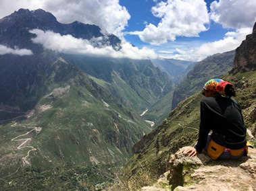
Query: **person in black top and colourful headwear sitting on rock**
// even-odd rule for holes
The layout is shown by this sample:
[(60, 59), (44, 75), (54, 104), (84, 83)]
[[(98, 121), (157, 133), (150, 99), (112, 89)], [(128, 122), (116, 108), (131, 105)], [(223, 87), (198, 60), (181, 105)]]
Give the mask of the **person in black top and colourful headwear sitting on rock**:
[[(242, 118), (234, 85), (222, 79), (210, 79), (202, 91), (199, 139), (186, 151), (195, 156), (205, 149), (212, 159), (237, 159), (247, 155), (247, 128)], [(211, 135), (208, 135), (212, 130)]]

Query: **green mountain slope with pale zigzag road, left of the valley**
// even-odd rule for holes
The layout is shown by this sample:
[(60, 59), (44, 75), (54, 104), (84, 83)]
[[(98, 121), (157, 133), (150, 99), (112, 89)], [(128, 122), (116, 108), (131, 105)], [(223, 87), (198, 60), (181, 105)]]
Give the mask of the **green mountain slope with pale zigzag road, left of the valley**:
[[(37, 58), (40, 59), (39, 55)], [(20, 73), (27, 81), (13, 80), (21, 83), (18, 87), (22, 89), (20, 95), (24, 96), (7, 91), (14, 101), (2, 102), (3, 147), (0, 153), (3, 176), (13, 173), (18, 165), (47, 167), (68, 161), (122, 163), (129, 157), (132, 145), (151, 130), (138, 114), (101, 89), (82, 71), (57, 55), (55, 59), (53, 63), (37, 65), (35, 75), (41, 79), (34, 79), (32, 84)], [(26, 66), (20, 61), (16, 66)], [(28, 68), (24, 73), (30, 75), (32, 71)], [(9, 113), (19, 116), (3, 119)]]

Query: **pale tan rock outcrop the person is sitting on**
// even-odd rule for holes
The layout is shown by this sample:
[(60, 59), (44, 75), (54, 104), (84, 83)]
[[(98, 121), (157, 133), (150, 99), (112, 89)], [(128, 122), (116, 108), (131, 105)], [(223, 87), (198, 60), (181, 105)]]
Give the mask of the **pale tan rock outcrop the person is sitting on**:
[[(170, 160), (170, 173), (167, 178), (175, 191), (206, 190), (255, 190), (256, 188), (256, 149), (249, 149), (249, 156), (236, 160), (211, 160), (202, 153), (197, 157), (184, 154), (187, 147), (179, 149)], [(166, 174), (166, 173), (165, 173)], [(162, 178), (160, 178), (162, 179)], [(163, 181), (161, 181), (163, 182)], [(147, 186), (142, 190), (170, 190), (161, 184)]]

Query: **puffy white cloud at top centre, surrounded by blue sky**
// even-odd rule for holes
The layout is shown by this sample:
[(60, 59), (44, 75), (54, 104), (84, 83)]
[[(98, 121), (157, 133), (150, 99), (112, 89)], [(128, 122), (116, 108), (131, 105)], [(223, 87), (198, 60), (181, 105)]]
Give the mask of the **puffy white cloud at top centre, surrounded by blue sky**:
[(152, 8), (155, 17), (160, 17), (157, 26), (149, 24), (143, 31), (129, 32), (138, 35), (143, 42), (163, 44), (176, 40), (176, 36), (199, 36), (209, 24), (207, 6), (203, 0), (161, 1)]

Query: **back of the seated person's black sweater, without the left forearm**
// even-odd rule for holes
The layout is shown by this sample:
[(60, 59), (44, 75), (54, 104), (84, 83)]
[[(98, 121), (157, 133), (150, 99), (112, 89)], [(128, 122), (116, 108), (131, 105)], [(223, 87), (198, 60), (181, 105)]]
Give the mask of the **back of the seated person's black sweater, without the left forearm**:
[(217, 95), (201, 100), (201, 125), (204, 125), (203, 129), (209, 128), (223, 135), (224, 146), (228, 149), (241, 149), (246, 146), (245, 122), (240, 105), (232, 98)]

